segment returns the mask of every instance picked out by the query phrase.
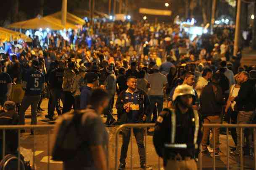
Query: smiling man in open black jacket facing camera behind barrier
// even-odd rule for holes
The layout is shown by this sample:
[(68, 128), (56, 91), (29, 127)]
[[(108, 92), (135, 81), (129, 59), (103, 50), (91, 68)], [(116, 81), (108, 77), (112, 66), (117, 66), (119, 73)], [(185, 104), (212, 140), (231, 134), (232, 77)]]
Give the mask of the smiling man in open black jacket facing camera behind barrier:
[[(128, 89), (119, 94), (116, 101), (116, 109), (120, 114), (121, 123), (143, 123), (150, 112), (150, 101), (148, 95), (140, 89), (137, 89), (137, 78), (129, 77), (127, 79)], [(140, 154), (140, 167), (143, 170), (152, 170), (145, 165), (145, 147), (144, 147), (144, 130), (143, 128), (133, 128), (133, 133)], [(119, 170), (125, 169), (125, 159), (127, 157), (128, 145), (131, 137), (131, 129), (122, 130), (123, 144), (121, 147), (121, 157)]]

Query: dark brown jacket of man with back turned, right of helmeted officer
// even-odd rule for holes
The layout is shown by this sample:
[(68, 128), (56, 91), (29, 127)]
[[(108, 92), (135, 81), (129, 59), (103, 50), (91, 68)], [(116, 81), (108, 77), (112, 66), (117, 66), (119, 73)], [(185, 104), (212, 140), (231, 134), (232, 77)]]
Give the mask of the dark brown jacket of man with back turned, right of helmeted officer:
[(208, 83), (200, 96), (200, 113), (203, 117), (220, 115), (225, 104), (222, 89), (218, 84)]

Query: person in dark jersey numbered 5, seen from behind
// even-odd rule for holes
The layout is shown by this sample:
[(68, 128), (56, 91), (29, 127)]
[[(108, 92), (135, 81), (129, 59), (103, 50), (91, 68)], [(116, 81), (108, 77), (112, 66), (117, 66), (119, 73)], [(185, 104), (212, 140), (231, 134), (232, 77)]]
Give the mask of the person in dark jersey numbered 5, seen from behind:
[[(22, 82), (22, 87), (25, 89), (25, 96), (21, 102), (19, 110), (20, 124), (25, 124), (25, 111), (31, 105), (31, 124), (37, 124), (37, 104), (40, 100), (40, 94), (45, 89), (45, 77), (43, 73), (38, 71), (39, 62), (32, 61), (32, 70), (26, 73)], [(33, 133), (33, 131), (31, 131)]]

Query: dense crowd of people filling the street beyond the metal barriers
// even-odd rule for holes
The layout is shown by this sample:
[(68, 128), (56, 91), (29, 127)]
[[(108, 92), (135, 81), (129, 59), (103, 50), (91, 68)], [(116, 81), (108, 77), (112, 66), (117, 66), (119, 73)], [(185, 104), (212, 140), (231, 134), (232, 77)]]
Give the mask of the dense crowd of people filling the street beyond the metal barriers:
[[(67, 39), (50, 36), (50, 41), (45, 41), (49, 42), (48, 47), (42, 47), (37, 37), (30, 47), (15, 42), (10, 47), (13, 52), (0, 54), (0, 105), (5, 108), (5, 102), (11, 99), (12, 86), (21, 84), (25, 94), (18, 107), (20, 124), (24, 124), (25, 111), (30, 105), (31, 124), (37, 124), (37, 112), (45, 111), (41, 108), (45, 97), (49, 98), (45, 118), (50, 120), (55, 119), (55, 109), (61, 116), (71, 109), (83, 110), (92, 104), (96, 107), (95, 101), (91, 101), (96, 87), (105, 89), (108, 94), (108, 105), (103, 110), (106, 126), (157, 122), (156, 128), (148, 129), (148, 133), (162, 134), (156, 132), (160, 131), (163, 119), (168, 118), (167, 111), (162, 112), (166, 100), (168, 108), (179, 109), (182, 113), (196, 110), (203, 123), (222, 123), (223, 117), (229, 123), (253, 121), (256, 67), (240, 65), (241, 49), (236, 56), (232, 55), (232, 32), (227, 29), (190, 40), (178, 25), (106, 22), (96, 23), (93, 28), (87, 24), (80, 33), (71, 31)], [(192, 89), (193, 93), (179, 94), (184, 89), (187, 92)], [(116, 94), (117, 120), (112, 115)], [(183, 95), (193, 97), (183, 99)], [(97, 100), (95, 96), (92, 98)], [(186, 99), (193, 101), (187, 103)], [(192, 110), (184, 111), (183, 107)], [(188, 121), (187, 117), (179, 119)], [(183, 128), (189, 126), (185, 124)], [(210, 151), (224, 156), (219, 149), (219, 128), (215, 128), (215, 151), (208, 147), (210, 130), (203, 128), (198, 137), (202, 154)], [(183, 133), (181, 129), (177, 131)], [(140, 165), (150, 169), (145, 165), (143, 130), (135, 128), (133, 133)], [(125, 168), (130, 134), (130, 129), (122, 131), (120, 170)], [(237, 146), (232, 154), (240, 154), (243, 134), (239, 130), (231, 130), (231, 134)], [(251, 133), (245, 134), (243, 145), (251, 153)], [(184, 143), (187, 139), (178, 140)], [(157, 139), (154, 142), (162, 145)], [(163, 156), (160, 151), (157, 153)], [(190, 152), (186, 154), (195, 157)], [(84, 162), (80, 163), (82, 166)]]

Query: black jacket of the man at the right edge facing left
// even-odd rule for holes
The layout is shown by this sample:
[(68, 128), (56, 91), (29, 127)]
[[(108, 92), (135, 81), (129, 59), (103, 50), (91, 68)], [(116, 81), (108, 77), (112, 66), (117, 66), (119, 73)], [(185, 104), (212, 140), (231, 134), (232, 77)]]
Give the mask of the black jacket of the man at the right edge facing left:
[(253, 111), (255, 110), (255, 83), (253, 80), (249, 79), (241, 84), (238, 96), (235, 98), (235, 109), (237, 111)]

